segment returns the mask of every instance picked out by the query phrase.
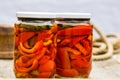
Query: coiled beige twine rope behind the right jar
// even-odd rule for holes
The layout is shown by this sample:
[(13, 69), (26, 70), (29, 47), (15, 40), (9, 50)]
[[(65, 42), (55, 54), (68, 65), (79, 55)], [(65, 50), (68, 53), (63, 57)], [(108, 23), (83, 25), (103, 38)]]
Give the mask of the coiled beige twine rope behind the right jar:
[[(93, 23), (92, 23), (93, 24)], [(107, 34), (104, 35), (96, 25), (93, 24), (93, 29), (99, 34), (99, 38), (93, 37), (93, 60), (105, 60), (111, 58), (114, 53), (120, 53), (120, 35)], [(107, 38), (116, 38), (114, 41), (109, 41)]]

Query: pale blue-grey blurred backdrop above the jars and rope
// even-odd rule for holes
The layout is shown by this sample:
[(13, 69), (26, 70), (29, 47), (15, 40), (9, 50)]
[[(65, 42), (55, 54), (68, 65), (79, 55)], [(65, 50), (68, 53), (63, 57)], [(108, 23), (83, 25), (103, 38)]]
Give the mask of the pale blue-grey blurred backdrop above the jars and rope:
[(0, 23), (14, 24), (18, 11), (89, 12), (103, 33), (120, 33), (119, 0), (1, 0)]

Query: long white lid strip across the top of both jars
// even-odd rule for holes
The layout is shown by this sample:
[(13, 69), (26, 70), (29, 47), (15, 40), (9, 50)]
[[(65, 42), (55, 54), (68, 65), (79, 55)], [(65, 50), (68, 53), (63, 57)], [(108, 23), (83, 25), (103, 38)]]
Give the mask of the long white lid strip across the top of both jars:
[(52, 12), (17, 12), (18, 18), (76, 18), (89, 19), (90, 13), (52, 13)]

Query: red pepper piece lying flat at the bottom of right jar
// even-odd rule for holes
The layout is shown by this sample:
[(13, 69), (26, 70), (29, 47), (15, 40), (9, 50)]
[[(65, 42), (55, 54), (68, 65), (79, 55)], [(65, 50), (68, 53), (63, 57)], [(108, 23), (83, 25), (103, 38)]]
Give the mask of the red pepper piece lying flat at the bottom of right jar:
[(76, 69), (60, 69), (60, 68), (57, 68), (57, 73), (61, 76), (66, 76), (66, 77), (79, 76), (79, 73)]

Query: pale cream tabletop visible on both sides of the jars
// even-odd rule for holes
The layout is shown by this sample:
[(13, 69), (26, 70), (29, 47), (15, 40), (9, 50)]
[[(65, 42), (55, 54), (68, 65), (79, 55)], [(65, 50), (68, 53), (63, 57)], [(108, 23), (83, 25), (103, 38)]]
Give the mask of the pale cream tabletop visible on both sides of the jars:
[[(15, 79), (13, 72), (13, 60), (0, 59), (0, 78)], [(93, 61), (93, 68), (88, 79), (120, 80), (120, 54), (104, 61)]]

